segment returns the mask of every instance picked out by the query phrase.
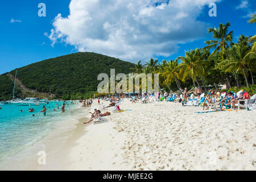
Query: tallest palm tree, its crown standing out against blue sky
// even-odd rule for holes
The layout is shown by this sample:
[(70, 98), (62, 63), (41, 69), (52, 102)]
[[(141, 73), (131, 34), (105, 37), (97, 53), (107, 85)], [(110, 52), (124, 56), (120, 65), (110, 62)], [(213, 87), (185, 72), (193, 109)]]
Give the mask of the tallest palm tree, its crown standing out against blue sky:
[[(226, 49), (229, 48), (229, 44), (233, 40), (233, 31), (228, 33), (228, 28), (230, 27), (230, 22), (226, 24), (220, 23), (220, 27), (218, 29), (216, 27), (209, 28), (208, 33), (212, 32), (212, 37), (217, 40), (208, 40), (205, 41), (205, 44), (208, 46), (204, 47), (203, 49), (214, 49), (210, 57), (216, 55), (217, 51), (221, 52), (222, 60), (224, 60), (224, 55), (226, 55)], [(240, 87), (240, 83), (238, 81), (237, 73), (234, 72), (237, 86)]]

